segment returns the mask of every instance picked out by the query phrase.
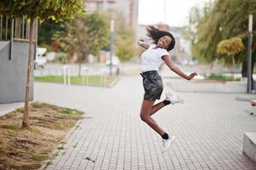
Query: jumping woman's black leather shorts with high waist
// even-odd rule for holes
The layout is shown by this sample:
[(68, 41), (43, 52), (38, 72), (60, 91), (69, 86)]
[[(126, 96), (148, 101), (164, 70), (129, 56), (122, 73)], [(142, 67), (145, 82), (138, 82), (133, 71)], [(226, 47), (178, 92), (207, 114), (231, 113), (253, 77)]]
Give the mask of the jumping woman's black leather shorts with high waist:
[(157, 71), (145, 71), (140, 73), (143, 77), (143, 88), (145, 91), (144, 99), (155, 101), (161, 98), (162, 94), (162, 77)]

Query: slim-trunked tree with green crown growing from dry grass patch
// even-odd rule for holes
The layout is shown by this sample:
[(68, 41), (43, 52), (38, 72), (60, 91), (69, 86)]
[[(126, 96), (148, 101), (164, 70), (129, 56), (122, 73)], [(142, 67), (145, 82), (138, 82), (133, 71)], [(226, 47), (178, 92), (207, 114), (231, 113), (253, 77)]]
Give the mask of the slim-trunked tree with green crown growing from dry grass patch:
[(77, 12), (82, 12), (82, 0), (2, 0), (0, 1), (0, 14), (9, 17), (27, 16), (30, 19), (29, 31), (29, 53), (27, 63), (26, 98), (25, 111), (23, 114), (22, 127), (29, 127), (29, 99), (31, 88), (31, 54), (34, 33), (34, 23), (37, 18), (40, 20), (64, 20), (71, 19)]

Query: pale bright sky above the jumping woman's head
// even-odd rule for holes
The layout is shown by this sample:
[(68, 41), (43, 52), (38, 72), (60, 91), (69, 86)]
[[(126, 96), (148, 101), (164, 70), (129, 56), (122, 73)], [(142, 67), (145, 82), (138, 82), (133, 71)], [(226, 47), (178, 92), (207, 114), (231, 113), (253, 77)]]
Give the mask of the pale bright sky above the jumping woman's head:
[(169, 26), (185, 26), (188, 23), (190, 8), (198, 5), (202, 6), (208, 1), (139, 0), (139, 24), (167, 23)]

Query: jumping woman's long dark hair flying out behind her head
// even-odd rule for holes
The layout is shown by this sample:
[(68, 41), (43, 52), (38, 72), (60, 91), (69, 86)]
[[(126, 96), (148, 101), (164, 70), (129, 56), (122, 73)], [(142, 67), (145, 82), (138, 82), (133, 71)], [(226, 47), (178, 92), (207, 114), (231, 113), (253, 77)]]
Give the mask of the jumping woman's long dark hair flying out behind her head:
[(168, 36), (168, 37), (171, 37), (172, 38), (172, 41), (170, 42), (167, 50), (170, 51), (172, 49), (174, 49), (174, 46), (175, 46), (175, 38), (173, 36), (173, 34), (171, 34), (170, 32), (168, 31), (160, 31), (158, 30), (155, 26), (148, 26), (146, 28), (146, 30), (148, 31), (148, 36), (151, 37), (156, 43), (158, 42), (158, 40), (161, 38), (161, 37), (164, 37), (164, 36)]

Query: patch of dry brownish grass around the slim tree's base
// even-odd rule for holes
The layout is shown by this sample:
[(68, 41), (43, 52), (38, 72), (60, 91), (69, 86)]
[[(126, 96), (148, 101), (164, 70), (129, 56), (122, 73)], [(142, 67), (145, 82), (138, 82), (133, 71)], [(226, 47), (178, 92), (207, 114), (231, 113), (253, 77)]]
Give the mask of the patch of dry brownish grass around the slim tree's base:
[(22, 114), (19, 109), (0, 117), (0, 169), (41, 167), (82, 118), (81, 111), (35, 102), (30, 105), (31, 127), (22, 129)]

